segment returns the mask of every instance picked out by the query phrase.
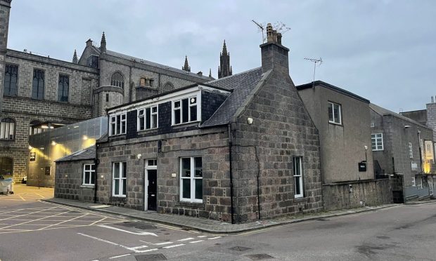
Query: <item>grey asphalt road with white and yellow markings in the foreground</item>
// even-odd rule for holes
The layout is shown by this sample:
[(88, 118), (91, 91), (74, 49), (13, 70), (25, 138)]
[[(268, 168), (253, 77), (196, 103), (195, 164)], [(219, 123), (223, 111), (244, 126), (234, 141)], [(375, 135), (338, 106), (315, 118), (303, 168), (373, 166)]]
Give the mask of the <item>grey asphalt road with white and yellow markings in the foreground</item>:
[(436, 203), (214, 235), (0, 198), (6, 260), (436, 260)]

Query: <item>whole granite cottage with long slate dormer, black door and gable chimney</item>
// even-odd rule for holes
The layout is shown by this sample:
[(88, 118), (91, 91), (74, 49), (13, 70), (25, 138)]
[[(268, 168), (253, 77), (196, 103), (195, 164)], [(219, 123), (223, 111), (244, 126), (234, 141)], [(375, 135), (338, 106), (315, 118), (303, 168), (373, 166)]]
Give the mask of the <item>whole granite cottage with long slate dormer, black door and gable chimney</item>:
[[(75, 173), (94, 175), (92, 200), (226, 222), (321, 210), (319, 134), (289, 49), (271, 25), (260, 49), (262, 67), (108, 109), (96, 166)], [(55, 196), (69, 169), (56, 166)]]

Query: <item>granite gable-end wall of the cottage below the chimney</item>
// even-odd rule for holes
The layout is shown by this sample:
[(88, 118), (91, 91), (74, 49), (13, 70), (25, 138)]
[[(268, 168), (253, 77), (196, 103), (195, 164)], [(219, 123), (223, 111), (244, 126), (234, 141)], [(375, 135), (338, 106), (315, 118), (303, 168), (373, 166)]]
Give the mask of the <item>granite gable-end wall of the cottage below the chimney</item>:
[[(262, 219), (322, 209), (319, 134), (287, 74), (272, 70), (232, 126), (237, 222), (259, 218), (258, 204)], [(299, 199), (293, 156), (302, 156)]]

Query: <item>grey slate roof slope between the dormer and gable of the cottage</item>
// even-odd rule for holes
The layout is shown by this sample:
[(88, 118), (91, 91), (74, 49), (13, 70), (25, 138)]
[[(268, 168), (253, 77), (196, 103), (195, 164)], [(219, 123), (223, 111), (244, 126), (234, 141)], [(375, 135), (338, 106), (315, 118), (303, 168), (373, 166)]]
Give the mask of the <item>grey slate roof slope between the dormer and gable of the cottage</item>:
[(262, 79), (262, 68), (258, 67), (222, 79), (206, 82), (210, 86), (233, 91), (217, 111), (200, 127), (205, 128), (229, 123), (231, 117), (243, 105), (243, 102), (245, 102), (260, 79)]

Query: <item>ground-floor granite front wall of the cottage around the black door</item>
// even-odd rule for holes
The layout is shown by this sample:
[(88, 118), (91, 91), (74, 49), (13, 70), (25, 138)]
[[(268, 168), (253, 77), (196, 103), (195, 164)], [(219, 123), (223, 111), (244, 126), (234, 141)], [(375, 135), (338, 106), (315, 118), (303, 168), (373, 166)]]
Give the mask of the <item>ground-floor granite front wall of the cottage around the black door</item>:
[[(98, 144), (98, 201), (144, 209), (144, 173), (148, 159), (158, 160), (158, 213), (229, 221), (229, 145), (226, 128), (168, 133)], [(158, 150), (158, 141), (162, 142)], [(141, 159), (138, 155), (141, 154)], [(203, 203), (180, 201), (180, 158), (201, 156)], [(113, 163), (127, 162), (127, 196), (112, 196)], [(100, 175), (103, 175), (101, 178)]]

